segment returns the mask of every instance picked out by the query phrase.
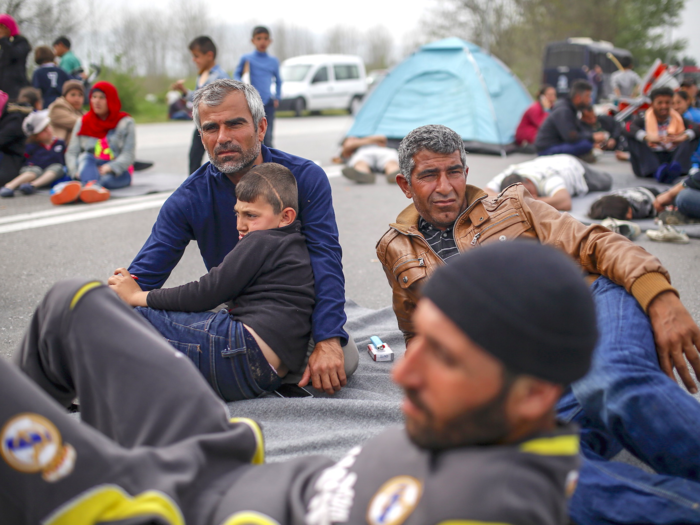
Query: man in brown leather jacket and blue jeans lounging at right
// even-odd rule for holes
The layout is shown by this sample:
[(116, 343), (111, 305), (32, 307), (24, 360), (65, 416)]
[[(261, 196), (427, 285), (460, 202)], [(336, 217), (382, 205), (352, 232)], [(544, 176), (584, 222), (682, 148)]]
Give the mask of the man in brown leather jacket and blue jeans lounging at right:
[[(591, 372), (557, 406), (561, 419), (582, 427), (585, 461), (573, 520), (680, 523), (694, 512), (700, 522), (700, 510), (689, 510), (700, 500), (700, 484), (688, 481), (700, 479), (700, 404), (672, 379), (675, 368), (697, 391), (684, 356), (700, 375), (700, 329), (658, 259), (533, 199), (521, 184), (489, 199), (466, 184), (461, 137), (444, 126), (409, 133), (399, 163), (397, 183), (413, 203), (381, 238), (377, 255), (407, 352), (421, 286), (450, 257), (517, 238), (558, 247), (589, 274), (601, 336)], [(623, 448), (658, 474), (608, 461)], [(664, 491), (656, 488), (661, 484)]]

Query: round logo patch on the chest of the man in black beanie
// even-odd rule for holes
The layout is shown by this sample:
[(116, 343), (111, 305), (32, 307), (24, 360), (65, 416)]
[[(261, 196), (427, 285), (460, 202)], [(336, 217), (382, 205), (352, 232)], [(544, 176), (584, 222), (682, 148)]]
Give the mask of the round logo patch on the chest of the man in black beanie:
[(374, 495), (367, 508), (370, 525), (400, 525), (416, 508), (423, 487), (411, 476), (390, 479)]

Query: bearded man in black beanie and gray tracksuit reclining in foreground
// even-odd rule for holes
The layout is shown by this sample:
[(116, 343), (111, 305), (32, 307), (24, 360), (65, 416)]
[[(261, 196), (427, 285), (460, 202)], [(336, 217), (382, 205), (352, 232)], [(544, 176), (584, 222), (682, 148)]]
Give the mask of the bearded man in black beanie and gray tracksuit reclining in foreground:
[[(19, 368), (0, 359), (2, 522), (564, 523), (579, 438), (554, 404), (596, 341), (576, 266), (534, 243), (475, 251), (436, 272), (415, 326), (393, 372), (405, 428), (337, 463), (262, 465), (258, 425), (229, 419), (158, 332), (98, 282), (59, 283)], [(63, 408), (76, 395), (80, 422)]]

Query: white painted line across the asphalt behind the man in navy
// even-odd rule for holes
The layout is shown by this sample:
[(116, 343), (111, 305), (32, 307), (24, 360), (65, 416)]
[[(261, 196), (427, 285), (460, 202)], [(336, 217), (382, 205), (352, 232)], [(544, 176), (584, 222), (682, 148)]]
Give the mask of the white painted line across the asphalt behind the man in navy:
[[(332, 165), (322, 167), (322, 169), (326, 172), (328, 178), (340, 176), (341, 166)], [(99, 204), (92, 204), (89, 208), (78, 204), (0, 217), (0, 234), (160, 208), (169, 196), (170, 193), (158, 193), (140, 197), (113, 199)]]

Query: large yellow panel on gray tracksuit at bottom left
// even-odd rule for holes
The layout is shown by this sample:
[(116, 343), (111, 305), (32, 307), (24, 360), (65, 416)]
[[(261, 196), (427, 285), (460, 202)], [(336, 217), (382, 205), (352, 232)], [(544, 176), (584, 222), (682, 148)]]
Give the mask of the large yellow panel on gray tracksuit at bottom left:
[(130, 518), (158, 516), (170, 525), (185, 525), (179, 507), (162, 492), (149, 490), (130, 496), (117, 485), (100, 485), (68, 502), (43, 525), (93, 525)]

